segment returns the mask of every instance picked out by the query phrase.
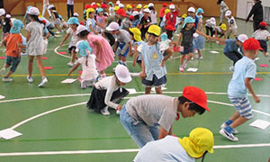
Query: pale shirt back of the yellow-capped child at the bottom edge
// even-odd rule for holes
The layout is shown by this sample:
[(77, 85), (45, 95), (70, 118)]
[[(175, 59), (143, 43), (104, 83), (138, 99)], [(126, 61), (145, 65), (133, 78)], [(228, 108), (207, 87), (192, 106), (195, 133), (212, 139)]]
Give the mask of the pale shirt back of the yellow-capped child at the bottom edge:
[(166, 136), (164, 139), (148, 142), (140, 149), (134, 162), (195, 162), (195, 158), (190, 157), (177, 137)]

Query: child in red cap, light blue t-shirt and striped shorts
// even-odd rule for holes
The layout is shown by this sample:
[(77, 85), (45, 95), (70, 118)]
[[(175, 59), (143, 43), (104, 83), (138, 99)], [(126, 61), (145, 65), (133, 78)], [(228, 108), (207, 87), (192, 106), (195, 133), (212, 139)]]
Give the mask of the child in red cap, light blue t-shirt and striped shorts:
[(258, 40), (250, 38), (243, 43), (243, 49), (244, 57), (235, 64), (235, 71), (228, 86), (229, 100), (237, 112), (220, 126), (220, 134), (231, 141), (238, 141), (238, 138), (233, 135), (237, 133), (237, 130), (234, 129), (252, 118), (252, 109), (247, 98), (247, 89), (252, 94), (255, 102), (260, 102), (250, 82), (257, 73), (254, 59), (257, 57), (258, 50), (262, 48)]

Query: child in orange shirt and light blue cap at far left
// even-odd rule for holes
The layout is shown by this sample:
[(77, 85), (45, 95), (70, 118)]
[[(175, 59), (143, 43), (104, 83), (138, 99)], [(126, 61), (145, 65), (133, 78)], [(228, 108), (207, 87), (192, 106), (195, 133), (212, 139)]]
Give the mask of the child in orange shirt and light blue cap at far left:
[(20, 20), (14, 20), (13, 27), (10, 30), (10, 34), (8, 34), (3, 40), (3, 44), (6, 45), (5, 51), (5, 64), (1, 71), (5, 71), (7, 67), (11, 67), (7, 74), (3, 77), (3, 82), (12, 82), (13, 79), (10, 78), (16, 68), (18, 67), (21, 61), (21, 50), (23, 38), (21, 36), (21, 30), (23, 28), (23, 22)]

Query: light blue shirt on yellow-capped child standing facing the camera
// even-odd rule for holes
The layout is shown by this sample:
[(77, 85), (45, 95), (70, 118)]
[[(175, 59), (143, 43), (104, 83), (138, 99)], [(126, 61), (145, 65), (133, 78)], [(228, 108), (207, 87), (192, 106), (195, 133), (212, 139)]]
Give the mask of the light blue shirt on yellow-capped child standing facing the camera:
[(153, 75), (157, 76), (157, 79), (166, 75), (166, 66), (161, 67), (161, 62), (164, 56), (159, 52), (159, 42), (152, 46), (148, 46), (145, 43), (142, 47), (141, 54), (144, 59), (146, 80), (152, 80)]

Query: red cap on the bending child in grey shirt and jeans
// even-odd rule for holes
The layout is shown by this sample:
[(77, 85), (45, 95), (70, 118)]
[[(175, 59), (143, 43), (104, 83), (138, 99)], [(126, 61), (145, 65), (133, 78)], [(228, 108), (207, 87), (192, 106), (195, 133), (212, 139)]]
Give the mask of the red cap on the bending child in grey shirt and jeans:
[(202, 89), (195, 86), (185, 86), (183, 96), (210, 112), (209, 108), (207, 107), (207, 95)]

